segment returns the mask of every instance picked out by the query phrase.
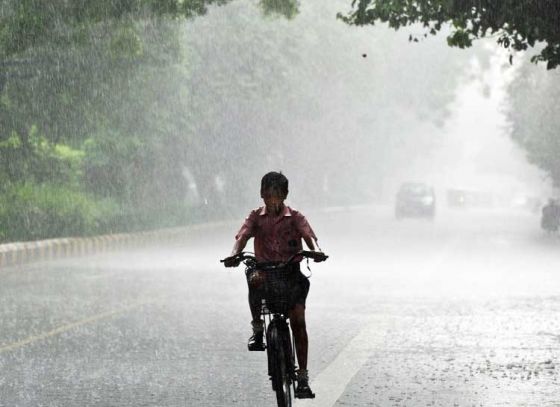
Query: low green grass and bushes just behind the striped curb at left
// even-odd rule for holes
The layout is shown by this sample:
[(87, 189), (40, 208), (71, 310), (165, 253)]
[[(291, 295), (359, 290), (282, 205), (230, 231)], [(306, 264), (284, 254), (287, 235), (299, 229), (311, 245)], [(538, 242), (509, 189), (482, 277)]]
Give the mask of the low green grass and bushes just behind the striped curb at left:
[(153, 210), (97, 198), (66, 185), (24, 182), (3, 185), (0, 243), (137, 232), (203, 221), (204, 215), (178, 202)]

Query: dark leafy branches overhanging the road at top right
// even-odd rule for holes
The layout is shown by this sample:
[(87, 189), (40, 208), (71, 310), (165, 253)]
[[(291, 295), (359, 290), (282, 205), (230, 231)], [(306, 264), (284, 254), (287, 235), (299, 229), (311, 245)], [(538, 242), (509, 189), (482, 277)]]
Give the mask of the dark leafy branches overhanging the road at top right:
[[(364, 26), (388, 23), (398, 30), (420, 24), (424, 37), (435, 35), (447, 24), (450, 46), (470, 47), (473, 40), (497, 36), (504, 48), (523, 51), (543, 43), (532, 57), (547, 69), (560, 65), (560, 3), (557, 0), (354, 0), (353, 10), (339, 14), (346, 23)], [(411, 35), (411, 41), (418, 41)], [(510, 63), (513, 55), (510, 54)]]

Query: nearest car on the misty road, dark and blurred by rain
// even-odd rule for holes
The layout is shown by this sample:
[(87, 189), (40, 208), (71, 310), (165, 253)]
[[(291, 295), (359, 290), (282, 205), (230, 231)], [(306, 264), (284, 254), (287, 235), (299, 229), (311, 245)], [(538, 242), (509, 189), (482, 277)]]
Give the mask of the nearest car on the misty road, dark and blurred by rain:
[(424, 183), (406, 182), (397, 192), (395, 217), (423, 217), (433, 219), (436, 214), (434, 189)]

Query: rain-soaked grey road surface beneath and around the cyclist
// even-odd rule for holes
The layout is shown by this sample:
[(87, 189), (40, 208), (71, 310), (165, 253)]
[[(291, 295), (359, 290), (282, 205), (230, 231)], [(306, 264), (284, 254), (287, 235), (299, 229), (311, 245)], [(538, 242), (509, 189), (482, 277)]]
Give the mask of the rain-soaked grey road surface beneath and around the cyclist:
[[(560, 240), (524, 212), (308, 213), (310, 375), (296, 406), (560, 406)], [(237, 222), (173, 247), (0, 271), (0, 406), (275, 405)]]

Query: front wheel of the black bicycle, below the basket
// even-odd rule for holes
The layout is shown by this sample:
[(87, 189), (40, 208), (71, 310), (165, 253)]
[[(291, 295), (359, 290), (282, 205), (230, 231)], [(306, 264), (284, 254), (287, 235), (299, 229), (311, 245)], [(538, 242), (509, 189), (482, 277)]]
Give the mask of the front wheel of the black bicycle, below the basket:
[(288, 365), (284, 338), (276, 326), (272, 326), (269, 333), (268, 357), (272, 388), (276, 392), (278, 407), (292, 407), (292, 377)]

